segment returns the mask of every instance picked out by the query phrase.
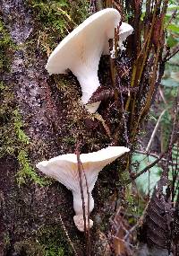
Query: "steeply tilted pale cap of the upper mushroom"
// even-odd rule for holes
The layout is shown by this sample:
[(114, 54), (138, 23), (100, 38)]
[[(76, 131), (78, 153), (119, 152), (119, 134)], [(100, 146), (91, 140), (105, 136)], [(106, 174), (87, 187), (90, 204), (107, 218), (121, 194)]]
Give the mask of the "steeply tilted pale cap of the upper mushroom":
[[(98, 40), (101, 40), (102, 53), (105, 41), (114, 37), (114, 28), (117, 27), (120, 19), (120, 13), (114, 8), (103, 9), (92, 14), (68, 34), (52, 52), (47, 60), (48, 73), (64, 74), (68, 68), (72, 70), (72, 67), (76, 66), (77, 56), (81, 58), (81, 62), (85, 62), (86, 59), (82, 59), (83, 51), (91, 44), (98, 48)], [(96, 53), (93, 54), (96, 55)]]

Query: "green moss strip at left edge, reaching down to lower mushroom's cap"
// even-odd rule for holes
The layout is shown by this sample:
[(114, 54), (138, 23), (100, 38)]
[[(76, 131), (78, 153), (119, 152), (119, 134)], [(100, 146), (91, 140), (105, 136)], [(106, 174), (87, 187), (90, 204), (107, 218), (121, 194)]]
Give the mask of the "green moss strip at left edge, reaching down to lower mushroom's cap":
[(11, 86), (7, 87), (4, 83), (0, 84), (0, 156), (11, 154), (17, 157), (19, 163), (19, 172), (17, 172), (17, 181), (21, 185), (27, 179), (34, 181), (39, 185), (45, 185), (47, 180), (38, 176), (30, 165), (30, 138), (23, 130), (21, 114), (14, 104), (14, 95)]

